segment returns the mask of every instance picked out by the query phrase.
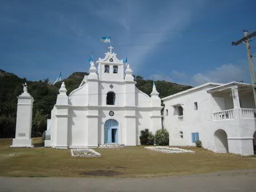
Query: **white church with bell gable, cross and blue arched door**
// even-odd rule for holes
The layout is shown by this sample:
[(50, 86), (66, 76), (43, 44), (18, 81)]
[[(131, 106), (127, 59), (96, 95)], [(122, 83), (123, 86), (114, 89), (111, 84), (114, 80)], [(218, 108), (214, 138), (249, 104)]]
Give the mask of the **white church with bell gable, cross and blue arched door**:
[[(155, 85), (151, 97), (135, 86), (129, 64), (112, 53), (91, 62), (90, 74), (66, 95), (64, 82), (47, 121), (45, 146), (97, 147), (108, 143), (139, 145), (139, 133), (161, 129), (161, 99)], [(97, 68), (98, 67), (98, 70)]]

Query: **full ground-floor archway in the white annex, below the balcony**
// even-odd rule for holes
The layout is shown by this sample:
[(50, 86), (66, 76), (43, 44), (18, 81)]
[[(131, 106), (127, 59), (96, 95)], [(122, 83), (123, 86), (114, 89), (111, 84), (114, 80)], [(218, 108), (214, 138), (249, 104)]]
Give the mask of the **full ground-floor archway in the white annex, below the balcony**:
[(218, 129), (214, 133), (214, 148), (215, 153), (229, 153), (227, 134), (222, 129)]

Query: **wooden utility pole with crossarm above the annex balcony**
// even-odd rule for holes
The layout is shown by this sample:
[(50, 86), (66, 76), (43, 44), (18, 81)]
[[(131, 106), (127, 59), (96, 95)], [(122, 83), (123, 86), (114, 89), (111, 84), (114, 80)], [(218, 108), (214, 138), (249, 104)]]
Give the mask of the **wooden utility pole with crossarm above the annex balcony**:
[(255, 75), (254, 75), (254, 70), (253, 70), (253, 61), (252, 61), (252, 57), (253, 55), (251, 55), (251, 46), (250, 46), (250, 38), (253, 38), (256, 36), (256, 31), (249, 34), (247, 30), (243, 30), (243, 34), (245, 35), (245, 37), (243, 37), (242, 39), (239, 39), (237, 42), (232, 42), (232, 45), (239, 45), (240, 43), (244, 42), (246, 45), (246, 49), (247, 49), (247, 57), (248, 57), (248, 62), (249, 62), (249, 67), (250, 67), (250, 74), (251, 74), (251, 85), (253, 86), (253, 97), (254, 97), (254, 103), (256, 106), (256, 82), (255, 82)]

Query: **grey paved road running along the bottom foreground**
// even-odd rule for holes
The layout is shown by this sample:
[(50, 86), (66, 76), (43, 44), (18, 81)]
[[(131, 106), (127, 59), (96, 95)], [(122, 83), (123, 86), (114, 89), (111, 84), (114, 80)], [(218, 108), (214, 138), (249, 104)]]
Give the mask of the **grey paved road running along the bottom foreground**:
[(0, 191), (256, 191), (256, 170), (161, 178), (0, 177)]

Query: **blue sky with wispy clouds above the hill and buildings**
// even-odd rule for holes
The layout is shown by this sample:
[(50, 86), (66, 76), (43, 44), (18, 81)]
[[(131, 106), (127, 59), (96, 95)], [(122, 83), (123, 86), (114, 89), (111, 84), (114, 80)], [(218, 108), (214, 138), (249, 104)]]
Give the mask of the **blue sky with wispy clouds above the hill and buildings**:
[[(29, 80), (88, 71), (112, 45), (135, 75), (187, 85), (250, 82), (256, 1), (0, 1), (0, 69)], [(101, 43), (111, 36), (111, 43)], [(256, 40), (251, 42), (256, 55)], [(255, 61), (254, 61), (255, 64)]]

